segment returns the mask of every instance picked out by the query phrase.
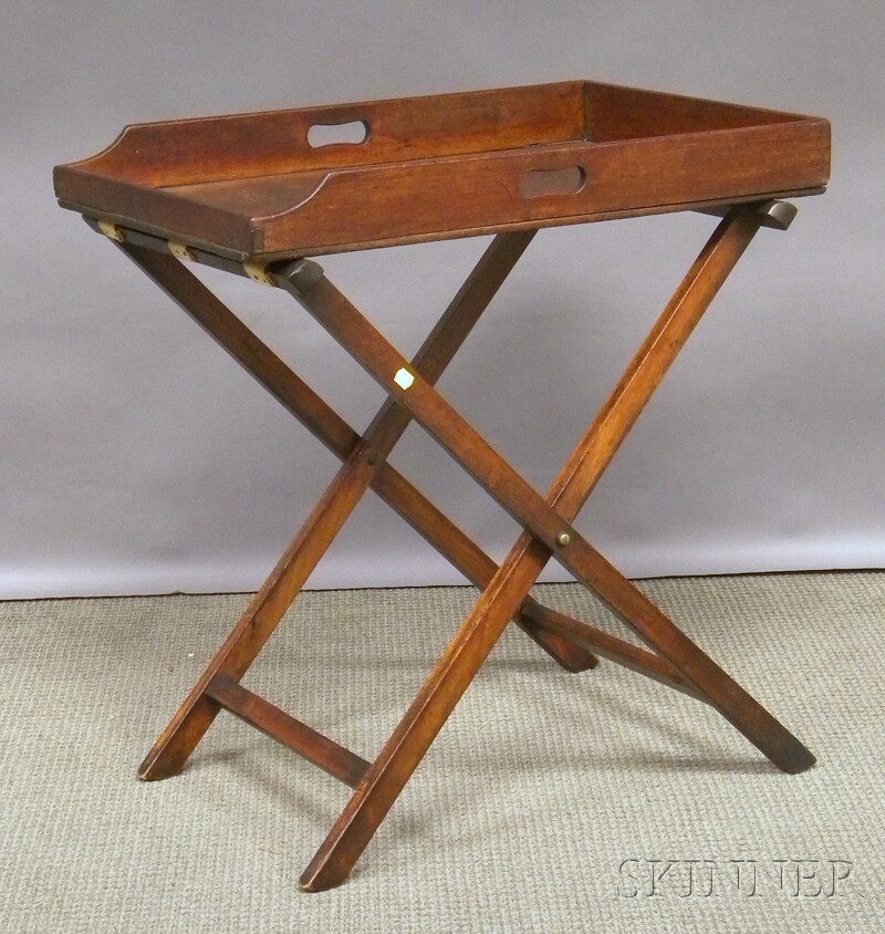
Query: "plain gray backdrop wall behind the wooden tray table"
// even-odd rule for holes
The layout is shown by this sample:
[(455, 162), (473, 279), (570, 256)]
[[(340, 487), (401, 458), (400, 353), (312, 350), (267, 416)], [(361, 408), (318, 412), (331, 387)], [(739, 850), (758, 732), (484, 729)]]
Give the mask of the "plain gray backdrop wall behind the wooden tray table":
[[(54, 163), (131, 122), (574, 77), (826, 116), (834, 143), (829, 193), (759, 235), (579, 528), (631, 575), (882, 567), (884, 27), (881, 0), (6, 3), (0, 596), (256, 588), (336, 467), (55, 206)], [(542, 231), (442, 392), (545, 487), (712, 226)], [(486, 242), (324, 266), (408, 352)], [(207, 279), (365, 425), (381, 392), (291, 299)], [(419, 428), (394, 463), (506, 552), (514, 525)], [(369, 495), (311, 584), (459, 580)]]

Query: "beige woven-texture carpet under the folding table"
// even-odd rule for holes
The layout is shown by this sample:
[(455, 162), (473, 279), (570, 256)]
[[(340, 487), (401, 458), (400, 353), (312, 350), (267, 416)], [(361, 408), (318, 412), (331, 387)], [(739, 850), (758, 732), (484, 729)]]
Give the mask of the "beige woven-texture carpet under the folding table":
[[(0, 604), (0, 931), (882, 930), (885, 574), (643, 587), (814, 769), (511, 626), (351, 880), (313, 895), (344, 786), (225, 714), (181, 776), (135, 778), (247, 596)], [(539, 592), (617, 631), (577, 587)], [(303, 594), (244, 683), (372, 758), (472, 600)]]

